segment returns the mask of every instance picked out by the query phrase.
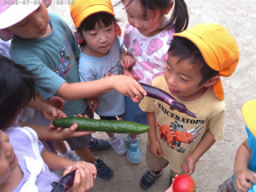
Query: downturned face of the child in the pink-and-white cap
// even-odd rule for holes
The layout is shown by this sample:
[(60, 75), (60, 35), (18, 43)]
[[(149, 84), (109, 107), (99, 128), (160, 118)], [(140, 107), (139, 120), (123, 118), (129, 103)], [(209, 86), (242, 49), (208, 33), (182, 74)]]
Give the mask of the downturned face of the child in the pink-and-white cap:
[(50, 34), (49, 14), (44, 3), (32, 14), (22, 19), (8, 30), (21, 38), (43, 38)]

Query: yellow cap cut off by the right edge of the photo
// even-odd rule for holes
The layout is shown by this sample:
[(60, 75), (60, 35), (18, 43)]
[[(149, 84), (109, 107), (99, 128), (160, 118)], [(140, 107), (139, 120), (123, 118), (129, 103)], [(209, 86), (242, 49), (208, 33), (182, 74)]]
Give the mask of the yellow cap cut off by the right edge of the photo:
[(242, 106), (242, 116), (246, 126), (256, 138), (256, 99), (250, 100)]

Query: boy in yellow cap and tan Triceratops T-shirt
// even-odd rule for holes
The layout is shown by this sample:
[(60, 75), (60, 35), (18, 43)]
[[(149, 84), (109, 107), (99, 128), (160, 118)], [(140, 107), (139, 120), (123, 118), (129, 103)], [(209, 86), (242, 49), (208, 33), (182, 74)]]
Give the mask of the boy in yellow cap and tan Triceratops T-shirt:
[(144, 98), (140, 107), (147, 113), (149, 170), (140, 186), (150, 188), (170, 164), (170, 183), (175, 174), (193, 174), (198, 159), (223, 138), (226, 104), (220, 76), (230, 76), (239, 58), (238, 45), (223, 27), (199, 24), (173, 34), (164, 75), (152, 86), (165, 90), (196, 114), (191, 118), (166, 103)]

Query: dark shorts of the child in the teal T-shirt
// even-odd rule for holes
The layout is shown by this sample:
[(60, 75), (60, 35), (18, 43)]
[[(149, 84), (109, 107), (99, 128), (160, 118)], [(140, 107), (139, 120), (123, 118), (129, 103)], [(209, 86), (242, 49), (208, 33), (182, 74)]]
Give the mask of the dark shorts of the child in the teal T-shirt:
[[(94, 118), (94, 112), (90, 110), (90, 108), (87, 108), (82, 115), (85, 114), (87, 114), (89, 118)], [(71, 150), (79, 150), (88, 146), (91, 138), (91, 134), (86, 134), (85, 136), (81, 136), (78, 138), (66, 138), (66, 142), (69, 144)]]

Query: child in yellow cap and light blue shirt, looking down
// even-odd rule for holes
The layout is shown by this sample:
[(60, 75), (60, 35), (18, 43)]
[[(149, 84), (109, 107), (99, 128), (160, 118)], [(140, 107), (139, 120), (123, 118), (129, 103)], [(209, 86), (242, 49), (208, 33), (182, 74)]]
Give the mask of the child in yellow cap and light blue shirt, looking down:
[[(118, 24), (110, 0), (74, 0), (70, 14), (79, 36), (84, 40), (80, 44), (78, 65), (81, 82), (121, 74), (122, 66), (134, 64), (134, 58), (126, 55), (121, 38), (116, 34), (115, 26)], [(89, 106), (92, 105), (90, 102), (93, 102), (93, 110), (96, 109), (95, 112), (104, 120), (117, 120), (116, 117), (125, 112), (125, 98), (117, 90), (110, 90), (94, 101), (88, 99)], [(121, 135), (106, 134), (115, 154), (126, 154)]]

